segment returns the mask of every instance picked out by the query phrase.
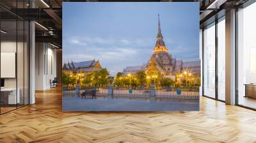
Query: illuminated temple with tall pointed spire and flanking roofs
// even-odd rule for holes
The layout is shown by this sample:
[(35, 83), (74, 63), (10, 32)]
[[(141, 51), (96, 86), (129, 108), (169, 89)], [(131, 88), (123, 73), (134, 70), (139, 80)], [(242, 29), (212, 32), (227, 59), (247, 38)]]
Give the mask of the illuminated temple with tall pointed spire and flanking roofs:
[(183, 62), (172, 57), (163, 41), (158, 15), (157, 40), (150, 60), (142, 66), (127, 66), (123, 73), (135, 73), (138, 71), (145, 71), (146, 73), (161, 72), (164, 77), (172, 77), (175, 73), (180, 73), (183, 70), (193, 74), (200, 74), (200, 61)]

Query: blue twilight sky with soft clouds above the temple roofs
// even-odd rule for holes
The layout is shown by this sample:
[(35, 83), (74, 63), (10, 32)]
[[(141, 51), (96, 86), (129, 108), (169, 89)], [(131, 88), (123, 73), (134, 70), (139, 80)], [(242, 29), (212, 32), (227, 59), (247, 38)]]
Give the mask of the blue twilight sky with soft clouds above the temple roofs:
[(63, 63), (99, 59), (111, 75), (147, 63), (158, 13), (172, 56), (199, 60), (199, 3), (63, 3)]

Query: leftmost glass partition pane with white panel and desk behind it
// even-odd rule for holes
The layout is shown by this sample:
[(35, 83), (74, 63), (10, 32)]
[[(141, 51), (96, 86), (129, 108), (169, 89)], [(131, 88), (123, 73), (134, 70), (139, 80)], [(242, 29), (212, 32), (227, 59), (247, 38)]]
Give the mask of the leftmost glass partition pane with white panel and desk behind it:
[(1, 21), (1, 113), (16, 109), (17, 22)]

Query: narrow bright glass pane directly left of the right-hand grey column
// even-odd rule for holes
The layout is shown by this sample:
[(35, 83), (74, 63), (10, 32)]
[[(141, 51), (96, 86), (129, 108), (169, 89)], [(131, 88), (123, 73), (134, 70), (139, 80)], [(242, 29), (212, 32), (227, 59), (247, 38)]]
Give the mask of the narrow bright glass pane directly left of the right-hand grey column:
[(218, 99), (225, 101), (225, 19), (218, 22)]

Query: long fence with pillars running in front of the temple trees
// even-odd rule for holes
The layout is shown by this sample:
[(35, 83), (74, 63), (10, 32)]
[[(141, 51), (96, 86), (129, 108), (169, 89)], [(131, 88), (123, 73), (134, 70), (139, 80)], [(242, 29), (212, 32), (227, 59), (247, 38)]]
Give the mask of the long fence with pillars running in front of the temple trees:
[[(63, 89), (63, 96), (81, 96), (86, 90), (95, 89), (96, 97), (111, 98), (156, 98), (156, 100), (197, 100), (199, 99), (199, 87), (82, 87)], [(92, 95), (87, 95), (92, 96)]]

